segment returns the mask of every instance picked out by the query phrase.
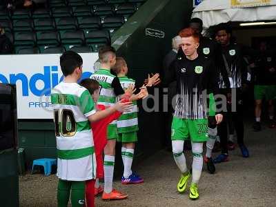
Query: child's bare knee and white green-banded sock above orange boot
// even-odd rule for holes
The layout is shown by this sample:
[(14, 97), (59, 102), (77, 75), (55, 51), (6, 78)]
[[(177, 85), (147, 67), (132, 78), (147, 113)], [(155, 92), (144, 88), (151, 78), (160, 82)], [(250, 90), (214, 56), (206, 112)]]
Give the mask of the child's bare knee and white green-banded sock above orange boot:
[(104, 148), (104, 192), (110, 193), (112, 191), (113, 173), (115, 165), (115, 146), (116, 139), (108, 139), (108, 144)]

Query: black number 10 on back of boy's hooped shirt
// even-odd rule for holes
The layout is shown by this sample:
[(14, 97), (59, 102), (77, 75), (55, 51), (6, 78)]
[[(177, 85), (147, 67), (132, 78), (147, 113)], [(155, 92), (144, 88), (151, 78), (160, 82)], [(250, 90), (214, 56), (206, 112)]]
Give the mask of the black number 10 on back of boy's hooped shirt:
[(63, 109), (54, 111), (56, 137), (72, 137), (77, 132), (77, 123), (72, 110)]

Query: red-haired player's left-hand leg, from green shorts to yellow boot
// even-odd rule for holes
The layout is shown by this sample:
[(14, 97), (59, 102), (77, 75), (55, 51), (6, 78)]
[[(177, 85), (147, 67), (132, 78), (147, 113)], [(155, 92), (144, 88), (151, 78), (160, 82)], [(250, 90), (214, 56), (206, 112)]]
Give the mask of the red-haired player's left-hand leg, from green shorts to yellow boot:
[(177, 184), (179, 193), (184, 193), (186, 190), (190, 172), (186, 166), (186, 158), (183, 153), (184, 140), (188, 138), (188, 126), (185, 119), (173, 117), (172, 119), (172, 154), (175, 163), (181, 172), (181, 177)]

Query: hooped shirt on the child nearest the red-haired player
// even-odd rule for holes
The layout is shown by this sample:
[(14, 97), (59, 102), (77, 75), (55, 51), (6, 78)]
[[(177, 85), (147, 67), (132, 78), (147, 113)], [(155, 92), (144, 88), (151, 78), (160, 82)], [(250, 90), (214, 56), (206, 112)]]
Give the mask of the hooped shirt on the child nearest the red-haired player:
[[(130, 84), (135, 84), (135, 80), (129, 79), (128, 77), (119, 77), (121, 87), (126, 89)], [(139, 130), (138, 128), (138, 118), (137, 118), (137, 101), (133, 102), (134, 106), (129, 112), (124, 112), (121, 117), (117, 120), (117, 132), (135, 132)]]

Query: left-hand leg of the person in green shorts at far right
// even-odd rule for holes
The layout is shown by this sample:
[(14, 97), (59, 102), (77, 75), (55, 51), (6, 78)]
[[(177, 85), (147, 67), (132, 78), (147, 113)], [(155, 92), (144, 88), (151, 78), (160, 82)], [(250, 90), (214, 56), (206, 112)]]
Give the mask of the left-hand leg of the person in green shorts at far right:
[(254, 98), (255, 98), (255, 124), (253, 129), (258, 132), (262, 130), (261, 115), (262, 115), (262, 99), (264, 98), (265, 90), (264, 86), (254, 86)]

